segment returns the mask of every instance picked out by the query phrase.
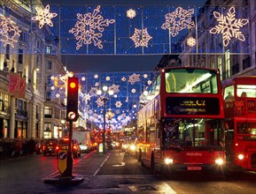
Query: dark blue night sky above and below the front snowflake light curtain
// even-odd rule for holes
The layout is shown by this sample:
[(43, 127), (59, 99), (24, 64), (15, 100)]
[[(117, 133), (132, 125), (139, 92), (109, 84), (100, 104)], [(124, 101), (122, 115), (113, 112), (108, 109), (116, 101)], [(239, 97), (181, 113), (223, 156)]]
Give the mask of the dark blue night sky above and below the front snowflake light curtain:
[[(198, 0), (43, 0), (43, 4), (113, 4), (113, 5), (149, 5), (168, 4), (174, 6), (201, 5)], [(154, 56), (62, 56), (62, 62), (68, 71), (108, 72), (108, 71), (153, 71), (162, 55)]]

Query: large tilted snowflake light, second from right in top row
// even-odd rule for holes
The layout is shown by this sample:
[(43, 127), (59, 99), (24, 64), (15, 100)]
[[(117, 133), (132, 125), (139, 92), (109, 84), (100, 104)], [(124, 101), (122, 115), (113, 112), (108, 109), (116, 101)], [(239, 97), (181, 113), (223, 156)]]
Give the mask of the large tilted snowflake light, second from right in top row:
[(168, 29), (169, 33), (175, 37), (181, 30), (195, 27), (195, 23), (191, 19), (192, 14), (194, 14), (194, 9), (183, 10), (182, 7), (178, 7), (174, 12), (166, 14), (166, 22), (161, 28)]

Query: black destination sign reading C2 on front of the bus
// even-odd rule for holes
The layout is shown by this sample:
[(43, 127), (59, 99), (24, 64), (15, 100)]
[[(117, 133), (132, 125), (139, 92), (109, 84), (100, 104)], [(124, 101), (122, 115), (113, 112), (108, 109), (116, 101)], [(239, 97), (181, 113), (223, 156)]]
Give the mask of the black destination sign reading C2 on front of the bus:
[(167, 97), (168, 115), (219, 115), (217, 98)]

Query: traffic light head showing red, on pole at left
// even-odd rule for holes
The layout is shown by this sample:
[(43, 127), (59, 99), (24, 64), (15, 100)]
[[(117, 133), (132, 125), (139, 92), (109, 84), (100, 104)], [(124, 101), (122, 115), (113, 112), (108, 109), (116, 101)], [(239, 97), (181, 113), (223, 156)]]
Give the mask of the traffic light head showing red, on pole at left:
[(78, 78), (67, 79), (66, 121), (78, 119)]

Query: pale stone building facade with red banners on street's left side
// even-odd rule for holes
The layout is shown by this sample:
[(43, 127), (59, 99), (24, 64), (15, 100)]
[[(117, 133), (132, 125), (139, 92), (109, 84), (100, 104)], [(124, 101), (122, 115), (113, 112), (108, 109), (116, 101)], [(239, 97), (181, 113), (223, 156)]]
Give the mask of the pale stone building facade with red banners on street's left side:
[[(64, 100), (47, 98), (50, 74), (66, 74), (58, 40), (31, 20), (40, 0), (1, 1), (1, 21), (12, 19), (19, 36), (0, 41), (0, 138), (58, 138), (66, 118)], [(17, 32), (16, 32), (17, 33)]]

